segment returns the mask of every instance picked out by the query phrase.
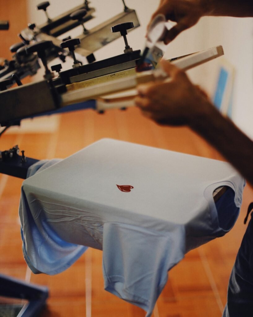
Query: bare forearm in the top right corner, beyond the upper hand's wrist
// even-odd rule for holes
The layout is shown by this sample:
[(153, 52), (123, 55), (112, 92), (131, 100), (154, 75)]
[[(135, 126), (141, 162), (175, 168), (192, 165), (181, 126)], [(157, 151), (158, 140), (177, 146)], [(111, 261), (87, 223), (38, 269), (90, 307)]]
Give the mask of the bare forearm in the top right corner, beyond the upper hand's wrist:
[(200, 0), (204, 15), (253, 17), (253, 1), (249, 0)]

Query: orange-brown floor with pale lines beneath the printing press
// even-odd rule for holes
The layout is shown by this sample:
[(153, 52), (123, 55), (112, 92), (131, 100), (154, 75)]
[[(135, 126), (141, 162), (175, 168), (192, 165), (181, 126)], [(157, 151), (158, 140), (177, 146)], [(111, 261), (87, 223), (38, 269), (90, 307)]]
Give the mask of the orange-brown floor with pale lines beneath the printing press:
[[(109, 110), (103, 115), (92, 110), (64, 114), (56, 133), (6, 134), (0, 139), (0, 149), (18, 144), (27, 156), (36, 159), (65, 158), (105, 137), (222, 159), (188, 128), (157, 126), (136, 108)], [(41, 317), (144, 317), (144, 311), (103, 289), (101, 251), (88, 249), (71, 268), (56, 276), (31, 274), (21, 250), (21, 184), (20, 179), (0, 175), (0, 273), (49, 287), (48, 306)], [(170, 271), (153, 317), (221, 316), (230, 271), (246, 229), (243, 218), (251, 201), (253, 192), (246, 186), (241, 214), (230, 233), (191, 251)]]

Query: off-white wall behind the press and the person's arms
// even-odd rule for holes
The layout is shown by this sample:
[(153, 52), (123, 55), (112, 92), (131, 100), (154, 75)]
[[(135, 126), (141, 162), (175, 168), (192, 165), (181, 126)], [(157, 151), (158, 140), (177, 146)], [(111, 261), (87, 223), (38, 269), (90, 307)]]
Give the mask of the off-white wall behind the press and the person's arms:
[[(36, 9), (40, 0), (27, 0), (29, 20), (40, 25), (46, 18), (44, 12)], [(81, 0), (51, 0), (48, 7), (50, 17), (82, 3)], [(128, 42), (133, 49), (142, 49), (145, 42), (146, 25), (150, 16), (157, 8), (158, 0), (126, 0), (128, 7), (137, 11), (141, 27), (130, 32)], [(91, 28), (123, 10), (121, 0), (91, 0), (91, 6), (96, 9), (93, 20), (86, 23)], [(235, 95), (233, 120), (251, 138), (253, 138), (253, 20), (251, 18), (204, 17), (193, 28), (180, 34), (165, 53), (165, 58), (171, 58), (216, 45), (223, 45), (225, 57), (236, 67)], [(72, 36), (81, 34), (81, 26), (70, 32)], [(63, 37), (61, 37), (63, 38)], [(108, 44), (94, 53), (97, 60), (122, 54), (123, 39)], [(85, 59), (84, 59), (85, 61)], [(188, 72), (192, 81), (202, 85), (210, 94), (215, 81), (215, 69), (219, 61), (210, 61)], [(66, 63), (67, 64), (67, 63)], [(71, 67), (71, 61), (64, 68)]]

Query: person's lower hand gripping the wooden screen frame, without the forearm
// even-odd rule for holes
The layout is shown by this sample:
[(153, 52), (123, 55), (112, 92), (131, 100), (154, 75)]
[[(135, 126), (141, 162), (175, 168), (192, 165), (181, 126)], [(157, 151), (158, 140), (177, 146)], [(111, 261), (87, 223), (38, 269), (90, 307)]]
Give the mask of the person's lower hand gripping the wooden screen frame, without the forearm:
[(211, 101), (191, 83), (185, 72), (164, 60), (161, 67), (170, 79), (137, 86), (135, 106), (159, 124), (191, 126), (213, 107)]

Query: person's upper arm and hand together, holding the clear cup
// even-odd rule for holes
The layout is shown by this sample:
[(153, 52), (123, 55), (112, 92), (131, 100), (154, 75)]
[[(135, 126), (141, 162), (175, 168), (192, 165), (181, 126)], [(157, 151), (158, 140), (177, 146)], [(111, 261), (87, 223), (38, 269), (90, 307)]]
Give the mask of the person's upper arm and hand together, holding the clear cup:
[(161, 0), (149, 24), (158, 14), (163, 14), (167, 20), (177, 23), (165, 35), (164, 42), (168, 44), (183, 30), (195, 25), (202, 16), (253, 17), (253, 1)]

